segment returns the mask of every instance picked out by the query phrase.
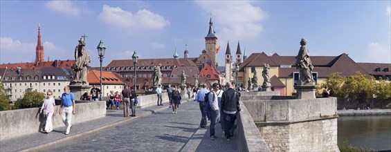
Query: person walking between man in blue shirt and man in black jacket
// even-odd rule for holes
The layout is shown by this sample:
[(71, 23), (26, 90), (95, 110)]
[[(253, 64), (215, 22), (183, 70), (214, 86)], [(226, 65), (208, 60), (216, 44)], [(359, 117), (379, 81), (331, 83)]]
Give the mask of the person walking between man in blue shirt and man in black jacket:
[(207, 93), (208, 95), (208, 101), (206, 104), (209, 104), (210, 107), (209, 113), (210, 113), (210, 140), (215, 140), (215, 124), (217, 122), (217, 117), (219, 116), (219, 102), (217, 100), (217, 91), (219, 91), (219, 84), (215, 83), (212, 84), (212, 91)]

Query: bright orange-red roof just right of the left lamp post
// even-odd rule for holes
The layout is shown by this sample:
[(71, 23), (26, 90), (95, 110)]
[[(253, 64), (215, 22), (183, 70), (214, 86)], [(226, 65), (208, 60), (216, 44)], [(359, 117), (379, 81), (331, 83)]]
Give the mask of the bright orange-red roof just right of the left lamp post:
[[(89, 84), (100, 84), (100, 71), (90, 70), (87, 75)], [(102, 71), (102, 84), (125, 84), (117, 73)]]

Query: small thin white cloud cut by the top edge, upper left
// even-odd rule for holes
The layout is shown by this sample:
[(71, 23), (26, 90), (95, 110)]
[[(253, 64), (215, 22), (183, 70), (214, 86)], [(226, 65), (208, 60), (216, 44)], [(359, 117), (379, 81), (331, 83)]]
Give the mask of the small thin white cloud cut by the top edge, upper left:
[(73, 1), (48, 1), (45, 7), (56, 12), (64, 12), (66, 15), (78, 17), (82, 12), (89, 12), (87, 8), (77, 7)]

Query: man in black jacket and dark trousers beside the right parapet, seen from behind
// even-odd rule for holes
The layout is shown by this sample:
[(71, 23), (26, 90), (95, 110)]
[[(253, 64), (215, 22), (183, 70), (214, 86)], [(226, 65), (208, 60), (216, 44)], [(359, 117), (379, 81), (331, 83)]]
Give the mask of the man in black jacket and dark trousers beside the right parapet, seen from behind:
[(224, 91), (223, 95), (221, 96), (221, 110), (223, 111), (222, 117), (224, 117), (225, 137), (226, 140), (230, 140), (230, 137), (233, 136), (237, 112), (240, 111), (240, 94), (233, 89), (233, 84), (230, 82), (227, 82), (226, 87), (228, 87), (228, 89)]

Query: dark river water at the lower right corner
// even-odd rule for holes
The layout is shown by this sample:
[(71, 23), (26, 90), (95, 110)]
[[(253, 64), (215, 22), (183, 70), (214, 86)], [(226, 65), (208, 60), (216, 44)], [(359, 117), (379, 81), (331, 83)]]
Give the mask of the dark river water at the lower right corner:
[(391, 115), (338, 117), (338, 143), (344, 140), (356, 147), (391, 150)]

